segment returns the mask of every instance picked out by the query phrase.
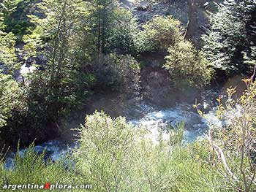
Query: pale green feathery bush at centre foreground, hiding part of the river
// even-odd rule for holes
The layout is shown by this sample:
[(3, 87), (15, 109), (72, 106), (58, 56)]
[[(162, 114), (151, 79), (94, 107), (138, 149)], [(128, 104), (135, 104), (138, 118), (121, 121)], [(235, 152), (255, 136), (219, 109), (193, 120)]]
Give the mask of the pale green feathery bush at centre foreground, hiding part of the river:
[(80, 176), (94, 186), (94, 191), (125, 191), (135, 182), (132, 175), (140, 134), (125, 118), (113, 120), (96, 112), (86, 117), (80, 135), (75, 161)]

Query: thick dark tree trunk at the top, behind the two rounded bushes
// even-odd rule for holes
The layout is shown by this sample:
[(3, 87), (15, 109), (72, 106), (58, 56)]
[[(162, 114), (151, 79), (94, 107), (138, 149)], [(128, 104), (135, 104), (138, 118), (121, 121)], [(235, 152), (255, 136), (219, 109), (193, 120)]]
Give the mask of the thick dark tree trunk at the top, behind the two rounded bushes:
[(196, 0), (187, 0), (187, 5), (188, 5), (189, 21), (187, 23), (187, 31), (184, 39), (189, 40), (189, 39), (192, 39), (192, 37), (195, 35), (195, 32), (197, 31), (197, 28), (198, 28)]

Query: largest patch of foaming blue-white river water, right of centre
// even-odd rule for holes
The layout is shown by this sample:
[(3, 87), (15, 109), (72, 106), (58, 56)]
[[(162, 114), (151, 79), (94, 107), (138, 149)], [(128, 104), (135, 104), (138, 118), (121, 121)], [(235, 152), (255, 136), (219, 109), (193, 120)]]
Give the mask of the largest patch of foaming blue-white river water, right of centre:
[(178, 123), (185, 123), (184, 142), (193, 142), (208, 133), (211, 125), (222, 126), (222, 122), (215, 115), (215, 108), (201, 118), (193, 111), (182, 109), (182, 105), (169, 110), (148, 112), (144, 118), (131, 120), (136, 126), (143, 126), (150, 131), (148, 137), (157, 141), (160, 130), (165, 140), (170, 139), (168, 128), (176, 128)]

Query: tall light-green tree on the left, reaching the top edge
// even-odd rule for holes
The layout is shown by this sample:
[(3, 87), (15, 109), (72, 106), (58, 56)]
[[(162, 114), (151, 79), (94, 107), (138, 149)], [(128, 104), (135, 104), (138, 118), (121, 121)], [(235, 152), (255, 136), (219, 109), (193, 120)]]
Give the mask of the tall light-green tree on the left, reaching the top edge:
[(86, 63), (81, 39), (88, 7), (82, 0), (43, 0), (39, 8), (45, 18), (30, 16), (37, 27), (24, 38), (25, 48), (29, 56), (45, 55), (48, 63), (45, 70), (32, 74), (30, 99), (38, 113), (54, 121), (60, 112), (79, 104), (79, 95), (86, 94), (89, 77), (78, 58), (85, 58)]

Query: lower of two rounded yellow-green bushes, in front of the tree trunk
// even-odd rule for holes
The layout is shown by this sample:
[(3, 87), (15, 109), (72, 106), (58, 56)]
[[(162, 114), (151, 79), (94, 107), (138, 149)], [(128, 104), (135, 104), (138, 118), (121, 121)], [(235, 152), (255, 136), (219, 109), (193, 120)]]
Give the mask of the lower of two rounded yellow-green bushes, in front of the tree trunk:
[(208, 61), (190, 42), (179, 42), (171, 46), (168, 53), (164, 68), (170, 73), (177, 88), (201, 88), (211, 80), (212, 71)]

